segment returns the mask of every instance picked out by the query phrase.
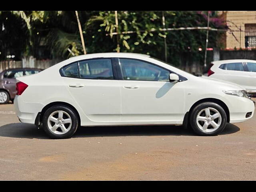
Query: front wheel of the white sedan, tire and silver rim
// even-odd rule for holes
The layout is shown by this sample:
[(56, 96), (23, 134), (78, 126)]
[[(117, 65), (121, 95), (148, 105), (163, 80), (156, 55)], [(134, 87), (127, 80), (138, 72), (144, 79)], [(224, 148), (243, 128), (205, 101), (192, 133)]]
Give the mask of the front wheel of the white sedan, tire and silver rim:
[(226, 112), (216, 103), (204, 102), (192, 110), (190, 124), (198, 135), (214, 136), (226, 127)]

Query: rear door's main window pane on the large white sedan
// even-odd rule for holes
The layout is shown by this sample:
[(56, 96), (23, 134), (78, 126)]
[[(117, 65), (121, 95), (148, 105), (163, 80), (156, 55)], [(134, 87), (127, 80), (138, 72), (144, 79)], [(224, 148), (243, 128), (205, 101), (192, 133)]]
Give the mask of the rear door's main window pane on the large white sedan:
[(86, 79), (114, 79), (110, 59), (93, 59), (79, 62), (80, 77)]

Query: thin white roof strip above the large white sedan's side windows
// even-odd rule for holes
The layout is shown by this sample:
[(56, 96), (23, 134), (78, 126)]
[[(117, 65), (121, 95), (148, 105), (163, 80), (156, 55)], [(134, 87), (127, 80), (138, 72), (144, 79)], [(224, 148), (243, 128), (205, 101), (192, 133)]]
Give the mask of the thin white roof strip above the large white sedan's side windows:
[(80, 59), (90, 59), (90, 58), (100, 58), (100, 57), (128, 57), (128, 58), (145, 58), (150, 57), (146, 54), (139, 54), (139, 53), (116, 53), (116, 52), (109, 52), (109, 53), (92, 53), (86, 55), (79, 55), (70, 57), (70, 60), (80, 60)]

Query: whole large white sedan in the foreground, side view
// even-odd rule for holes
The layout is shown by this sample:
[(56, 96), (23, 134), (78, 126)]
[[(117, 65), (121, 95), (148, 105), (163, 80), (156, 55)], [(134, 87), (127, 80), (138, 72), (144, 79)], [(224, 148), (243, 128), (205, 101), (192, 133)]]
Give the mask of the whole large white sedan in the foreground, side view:
[(14, 106), (21, 122), (42, 124), (52, 138), (70, 138), (79, 126), (171, 124), (212, 136), (255, 108), (237, 84), (133, 53), (76, 56), (19, 77)]

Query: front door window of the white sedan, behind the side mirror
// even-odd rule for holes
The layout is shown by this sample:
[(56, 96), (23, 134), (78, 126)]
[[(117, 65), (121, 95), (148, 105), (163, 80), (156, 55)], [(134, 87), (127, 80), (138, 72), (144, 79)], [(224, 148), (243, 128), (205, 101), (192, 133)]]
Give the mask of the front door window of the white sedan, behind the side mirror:
[(120, 58), (124, 80), (169, 81), (170, 72), (148, 62)]

